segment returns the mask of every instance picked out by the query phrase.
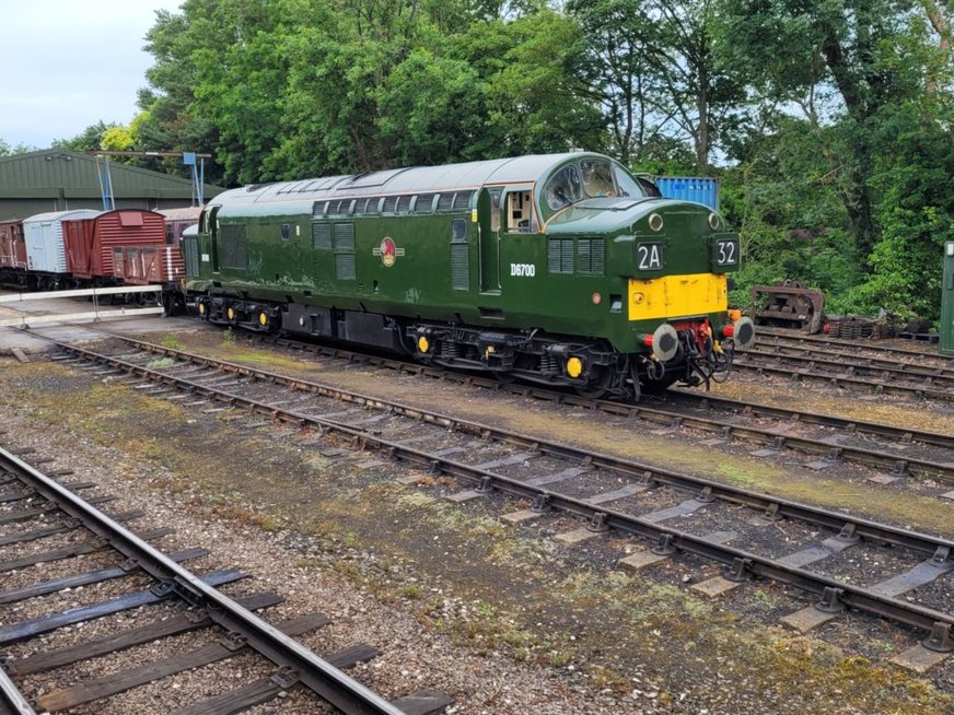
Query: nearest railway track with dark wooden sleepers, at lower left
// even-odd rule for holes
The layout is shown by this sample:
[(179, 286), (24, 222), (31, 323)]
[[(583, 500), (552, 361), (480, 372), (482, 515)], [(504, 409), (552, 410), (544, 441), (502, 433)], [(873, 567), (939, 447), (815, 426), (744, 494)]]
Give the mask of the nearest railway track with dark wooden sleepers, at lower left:
[[(67, 472), (56, 476), (63, 477)], [(191, 548), (163, 553), (150, 541), (167, 535), (168, 529), (133, 532), (126, 525), (142, 513), (105, 514), (96, 505), (107, 503), (108, 497), (83, 500), (75, 493), (92, 487), (92, 483), (73, 483), (68, 488), (13, 452), (0, 448), (0, 573), (18, 572), (26, 576), (18, 578), (13, 587), (8, 582), (0, 591), (0, 648), (27, 646), (20, 648), (20, 653), (26, 655), (3, 661), (0, 713), (31, 715), (38, 711), (72, 710), (191, 668), (228, 661), (243, 653), (257, 654), (267, 661), (272, 675), (174, 712), (178, 715), (235, 713), (272, 701), (293, 688), (307, 689), (322, 702), (356, 715), (423, 715), (443, 711), (450, 704), (447, 698), (432, 691), (394, 703), (375, 694), (342, 671), (373, 658), (374, 648), (359, 645), (324, 658), (317, 656), (294, 636), (326, 625), (329, 620), (325, 616), (305, 613), (275, 625), (268, 623), (253, 611), (281, 602), (281, 595), (260, 593), (229, 598), (217, 586), (243, 578), (245, 574), (241, 570), (202, 575), (186, 570), (183, 562), (208, 552)], [(50, 548), (49, 541), (57, 539), (63, 546)], [(32, 570), (38, 564), (69, 565), (69, 560), (91, 553), (100, 554), (100, 560), (112, 565), (78, 572), (67, 569), (62, 572), (67, 575), (53, 579), (33, 575)], [(51, 598), (65, 589), (95, 589), (107, 582), (129, 579), (137, 581), (135, 590), (67, 610), (47, 612), (46, 601), (40, 598)], [(139, 583), (143, 581), (144, 584)], [(142, 608), (165, 610), (156, 613), (153, 621), (125, 628), (123, 614)], [(23, 610), (34, 614), (24, 619), (20, 616)], [(68, 631), (93, 620), (102, 624), (110, 618), (116, 619), (116, 625), (112, 628), (110, 622), (108, 635), (54, 649), (44, 646), (43, 641), (60, 629)], [(68, 687), (44, 684), (44, 676), (49, 682), (57, 682), (57, 669), (189, 632), (208, 633), (208, 642), (190, 652), (159, 654), (140, 666), (85, 678)], [(242, 667), (247, 669), (247, 663)], [(24, 680), (30, 685), (21, 690)]]

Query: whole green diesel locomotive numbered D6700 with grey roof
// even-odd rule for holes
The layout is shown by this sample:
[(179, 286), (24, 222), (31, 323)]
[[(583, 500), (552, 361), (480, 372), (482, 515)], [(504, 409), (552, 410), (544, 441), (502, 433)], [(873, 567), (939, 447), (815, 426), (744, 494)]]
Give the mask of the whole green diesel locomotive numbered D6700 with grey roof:
[(254, 185), (182, 242), (187, 305), (255, 330), (629, 396), (728, 374), (738, 236), (586, 152)]

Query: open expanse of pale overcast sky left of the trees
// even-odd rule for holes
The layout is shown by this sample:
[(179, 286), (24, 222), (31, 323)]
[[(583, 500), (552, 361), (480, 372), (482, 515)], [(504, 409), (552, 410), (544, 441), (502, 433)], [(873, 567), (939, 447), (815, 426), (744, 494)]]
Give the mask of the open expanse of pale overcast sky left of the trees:
[(129, 124), (152, 65), (143, 37), (182, 1), (0, 0), (0, 139), (46, 149), (101, 119)]

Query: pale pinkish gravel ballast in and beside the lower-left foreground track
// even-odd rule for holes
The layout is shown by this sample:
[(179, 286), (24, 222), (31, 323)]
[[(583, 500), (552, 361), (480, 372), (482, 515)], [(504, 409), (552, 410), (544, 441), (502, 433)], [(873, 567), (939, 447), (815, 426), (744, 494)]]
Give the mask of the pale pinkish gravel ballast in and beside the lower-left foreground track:
[[(356, 589), (354, 584), (327, 569), (327, 564), (313, 563), (303, 556), (316, 547), (295, 539), (287, 531), (264, 531), (251, 526), (237, 526), (234, 520), (217, 518), (202, 506), (184, 504), (160, 492), (135, 489), (137, 483), (167, 479), (162, 468), (148, 464), (132, 465), (132, 457), (123, 450), (80, 438), (68, 432), (39, 424), (26, 415), (26, 406), (7, 405), (3, 410), (4, 430), (8, 439), (4, 446), (32, 446), (44, 455), (69, 455), (60, 457), (47, 470), (70, 468), (71, 480), (95, 480), (97, 491), (121, 495), (110, 503), (112, 511), (141, 508), (146, 516), (137, 519), (138, 528), (171, 526), (175, 535), (162, 539), (164, 549), (173, 550), (187, 546), (203, 546), (212, 554), (189, 566), (199, 573), (240, 566), (251, 577), (241, 587), (233, 584), (223, 591), (237, 596), (249, 590), (274, 590), (286, 596), (284, 603), (268, 609), (267, 618), (277, 622), (301, 613), (317, 611), (331, 618), (331, 623), (302, 637), (302, 641), (318, 654), (331, 654), (338, 649), (369, 643), (381, 650), (375, 659), (358, 666), (352, 672), (362, 682), (387, 698), (398, 698), (421, 688), (437, 688), (452, 694), (457, 703), (449, 713), (537, 713), (563, 715), (570, 713), (632, 713), (652, 714), (665, 707), (655, 701), (659, 690), (643, 683), (640, 673), (633, 672), (631, 690), (616, 693), (598, 690), (585, 683), (566, 678), (552, 668), (519, 663), (498, 650), (474, 653), (456, 645), (452, 638), (439, 633), (422, 632), (412, 609), (400, 603), (382, 603), (379, 598)], [(9, 435), (16, 435), (11, 443)], [(28, 457), (27, 457), (28, 458)], [(110, 465), (124, 465), (112, 469)], [(55, 537), (33, 542), (25, 552), (45, 551), (77, 539), (81, 534)], [(293, 548), (286, 544), (291, 542)], [(20, 555), (18, 551), (16, 555)], [(0, 551), (7, 558), (7, 550)], [(363, 556), (371, 558), (368, 554)], [(59, 561), (20, 570), (4, 575), (3, 589), (47, 581), (69, 573), (115, 565), (117, 559), (101, 553)], [(35, 598), (11, 606), (0, 606), (0, 621), (18, 622), (45, 612), (73, 608), (119, 596), (142, 587), (144, 579), (130, 577), (114, 579), (85, 588)], [(451, 608), (449, 606), (449, 608)], [(466, 614), (468, 605), (454, 605)], [(7, 648), (13, 659), (37, 652), (63, 647), (112, 632), (120, 628), (141, 625), (174, 609), (168, 606), (148, 607), (124, 613), (118, 619), (91, 621), (72, 628), (60, 629), (50, 634)], [(121, 654), (82, 661), (56, 671), (55, 680), (46, 676), (32, 677), (24, 683), (31, 695), (39, 695), (56, 688), (68, 687), (84, 679), (102, 677), (120, 669), (149, 663), (156, 657), (185, 653), (210, 641), (207, 632), (189, 633), (160, 643), (151, 643)], [(238, 668), (238, 670), (236, 670)], [(571, 671), (572, 672), (572, 671)], [(153, 683), (112, 699), (105, 704), (95, 703), (80, 707), (77, 713), (102, 713), (104, 715), (128, 713), (165, 713), (196, 700), (228, 690), (230, 683), (237, 685), (269, 675), (270, 670), (252, 656), (242, 656), (230, 663), (181, 673), (160, 683)], [(644, 690), (641, 690), (640, 687)], [(260, 706), (251, 713), (272, 712), (274, 705)], [(315, 702), (306, 694), (292, 691), (281, 703), (282, 714), (315, 713)]]

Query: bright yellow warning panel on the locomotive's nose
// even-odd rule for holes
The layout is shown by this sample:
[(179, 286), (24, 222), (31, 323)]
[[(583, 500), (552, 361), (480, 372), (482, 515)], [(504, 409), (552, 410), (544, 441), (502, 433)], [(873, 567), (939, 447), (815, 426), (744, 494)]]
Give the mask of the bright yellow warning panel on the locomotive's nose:
[(725, 276), (691, 273), (629, 279), (629, 319), (652, 320), (719, 313), (729, 307)]

